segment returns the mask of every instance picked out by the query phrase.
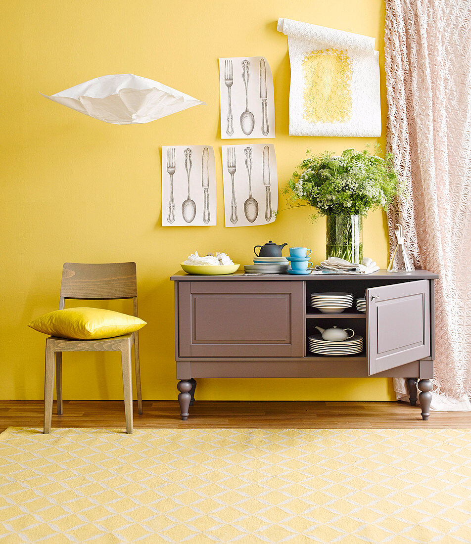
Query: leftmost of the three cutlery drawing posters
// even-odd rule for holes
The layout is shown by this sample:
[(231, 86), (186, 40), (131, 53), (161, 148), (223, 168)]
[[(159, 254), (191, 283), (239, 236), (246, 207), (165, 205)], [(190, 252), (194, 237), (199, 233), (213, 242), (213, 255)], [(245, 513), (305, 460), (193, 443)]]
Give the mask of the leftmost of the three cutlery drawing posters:
[(216, 166), (210, 145), (162, 146), (162, 226), (216, 225)]

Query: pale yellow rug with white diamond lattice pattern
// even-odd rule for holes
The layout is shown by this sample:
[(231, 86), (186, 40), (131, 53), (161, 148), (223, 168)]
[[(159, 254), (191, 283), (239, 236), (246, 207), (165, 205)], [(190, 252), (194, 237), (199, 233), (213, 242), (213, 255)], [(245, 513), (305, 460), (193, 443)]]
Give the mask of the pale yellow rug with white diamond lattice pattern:
[(471, 431), (9, 428), (0, 542), (470, 542)]

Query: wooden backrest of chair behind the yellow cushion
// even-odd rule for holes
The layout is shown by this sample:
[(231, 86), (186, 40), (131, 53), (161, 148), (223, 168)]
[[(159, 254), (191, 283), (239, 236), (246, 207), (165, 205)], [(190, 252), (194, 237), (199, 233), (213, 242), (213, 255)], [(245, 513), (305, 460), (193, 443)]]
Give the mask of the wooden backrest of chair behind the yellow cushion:
[(136, 263), (65, 263), (60, 306), (65, 299), (134, 299), (137, 305)]

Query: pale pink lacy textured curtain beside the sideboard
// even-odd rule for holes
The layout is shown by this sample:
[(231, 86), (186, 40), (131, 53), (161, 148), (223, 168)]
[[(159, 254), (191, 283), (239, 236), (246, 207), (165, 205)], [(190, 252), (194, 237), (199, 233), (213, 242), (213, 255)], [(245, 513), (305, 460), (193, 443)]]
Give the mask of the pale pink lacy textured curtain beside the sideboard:
[(471, 2), (386, 0), (387, 138), (405, 190), (388, 215), (436, 286), (435, 390), (471, 395)]

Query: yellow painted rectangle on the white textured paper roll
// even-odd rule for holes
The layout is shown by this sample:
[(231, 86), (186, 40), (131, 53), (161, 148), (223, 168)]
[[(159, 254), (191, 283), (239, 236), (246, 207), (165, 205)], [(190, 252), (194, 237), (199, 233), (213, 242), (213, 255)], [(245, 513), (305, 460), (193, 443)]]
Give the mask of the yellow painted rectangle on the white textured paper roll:
[(352, 61), (346, 51), (312, 51), (303, 60), (304, 119), (345, 122), (352, 117)]

